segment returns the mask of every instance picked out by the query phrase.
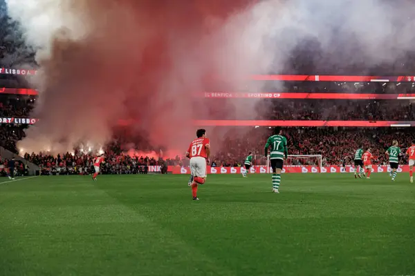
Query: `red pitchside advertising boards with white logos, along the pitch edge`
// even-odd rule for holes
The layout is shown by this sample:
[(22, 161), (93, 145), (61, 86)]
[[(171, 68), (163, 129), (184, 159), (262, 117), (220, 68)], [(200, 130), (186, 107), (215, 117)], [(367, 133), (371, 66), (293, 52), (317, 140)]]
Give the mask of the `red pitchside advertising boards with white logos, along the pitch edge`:
[[(245, 172), (245, 168), (241, 167), (211, 167), (207, 168), (209, 175), (232, 175)], [(189, 167), (180, 167), (180, 166), (169, 166), (168, 170), (174, 175), (190, 175)], [(271, 168), (266, 166), (252, 166), (249, 170), (250, 173), (270, 173)], [(373, 165), (372, 172), (390, 172), (391, 168), (389, 166), (383, 165)], [(319, 173), (320, 168), (317, 166), (284, 166), (283, 173)], [(322, 167), (322, 173), (353, 173), (354, 168), (352, 166), (324, 166)], [(409, 166), (403, 165), (399, 166), (398, 172), (409, 172)]]

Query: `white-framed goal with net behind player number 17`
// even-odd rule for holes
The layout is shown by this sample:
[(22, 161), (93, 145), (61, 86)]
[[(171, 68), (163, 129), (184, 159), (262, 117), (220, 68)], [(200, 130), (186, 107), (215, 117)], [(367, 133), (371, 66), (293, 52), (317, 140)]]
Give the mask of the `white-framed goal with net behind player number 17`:
[[(260, 161), (260, 164), (257, 165), (266, 166), (267, 172), (272, 171), (269, 155), (267, 158), (258, 157), (256, 160)], [(318, 168), (318, 172), (322, 172), (322, 155), (288, 155), (288, 158), (284, 161), (285, 166), (313, 166)]]

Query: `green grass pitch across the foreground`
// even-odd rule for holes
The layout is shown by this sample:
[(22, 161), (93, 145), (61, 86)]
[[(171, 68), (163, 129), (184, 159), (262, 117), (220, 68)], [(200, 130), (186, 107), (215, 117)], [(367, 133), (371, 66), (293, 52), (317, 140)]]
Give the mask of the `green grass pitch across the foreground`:
[[(6, 181), (6, 179), (0, 180)], [(0, 275), (415, 275), (398, 174), (37, 177), (0, 184)]]

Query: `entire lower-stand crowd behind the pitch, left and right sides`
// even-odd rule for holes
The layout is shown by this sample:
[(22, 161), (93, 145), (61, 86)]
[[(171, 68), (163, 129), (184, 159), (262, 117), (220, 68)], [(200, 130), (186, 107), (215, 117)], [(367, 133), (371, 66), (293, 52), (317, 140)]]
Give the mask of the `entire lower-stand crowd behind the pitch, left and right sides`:
[[(6, 132), (1, 128), (1, 137), (15, 137), (12, 132)], [(11, 130), (17, 132), (17, 130)], [(255, 164), (264, 165), (264, 146), (266, 139), (271, 134), (270, 128), (233, 128), (223, 135), (216, 137), (215, 132), (210, 132), (212, 144), (212, 166), (241, 166), (248, 152), (255, 155)], [(403, 152), (400, 155), (400, 164), (407, 164), (406, 149), (412, 145), (415, 132), (410, 129), (390, 128), (286, 128), (284, 135), (288, 140), (288, 153), (290, 155), (322, 155), (323, 165), (353, 165), (353, 156), (356, 149), (362, 146), (364, 150), (371, 148), (371, 152), (377, 161), (374, 164), (388, 164), (385, 151), (391, 146), (391, 141), (396, 139)], [(10, 141), (10, 150), (17, 150)], [(118, 140), (116, 140), (118, 141)], [(4, 145), (3, 145), (4, 146)], [(135, 174), (147, 173), (150, 166), (161, 166), (167, 170), (167, 166), (187, 166), (188, 159), (183, 155), (163, 158), (163, 152), (136, 152), (123, 150), (122, 144), (116, 142), (109, 144), (105, 151), (105, 163), (102, 164), (104, 174)], [(93, 157), (96, 155), (83, 150), (66, 152), (62, 155), (49, 155), (48, 153), (26, 153), (24, 158), (41, 168), (42, 174), (89, 174), (93, 171)], [(317, 165), (316, 158), (288, 159), (286, 164), (292, 165)]]

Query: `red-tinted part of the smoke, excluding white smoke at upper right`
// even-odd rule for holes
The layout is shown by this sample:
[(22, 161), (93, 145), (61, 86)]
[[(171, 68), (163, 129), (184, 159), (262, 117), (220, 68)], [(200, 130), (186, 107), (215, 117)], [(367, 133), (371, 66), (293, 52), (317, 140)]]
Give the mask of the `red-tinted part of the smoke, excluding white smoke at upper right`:
[(39, 151), (47, 144), (57, 152), (81, 141), (102, 145), (118, 119), (127, 119), (152, 146), (185, 150), (195, 135), (194, 112), (207, 114), (215, 104), (194, 99), (194, 92), (217, 87), (216, 76), (225, 79), (221, 86), (236, 89), (252, 66), (239, 37), (253, 2), (83, 0), (63, 6), (86, 34), (73, 39), (77, 30), (63, 28), (50, 51), (38, 53), (42, 93), (33, 116), (41, 120), (19, 146)]

